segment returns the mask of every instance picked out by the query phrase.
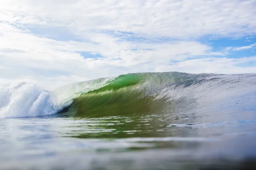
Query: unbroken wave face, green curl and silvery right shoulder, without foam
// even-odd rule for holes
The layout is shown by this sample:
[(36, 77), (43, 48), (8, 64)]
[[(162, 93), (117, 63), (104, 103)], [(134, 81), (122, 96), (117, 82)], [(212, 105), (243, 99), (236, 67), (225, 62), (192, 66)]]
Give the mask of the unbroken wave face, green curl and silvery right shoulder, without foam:
[(255, 74), (126, 74), (79, 95), (65, 111), (79, 117), (209, 112), (253, 102), (255, 92)]

